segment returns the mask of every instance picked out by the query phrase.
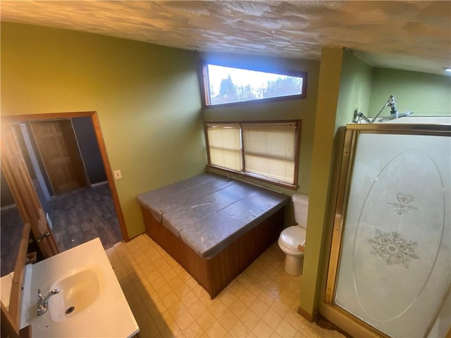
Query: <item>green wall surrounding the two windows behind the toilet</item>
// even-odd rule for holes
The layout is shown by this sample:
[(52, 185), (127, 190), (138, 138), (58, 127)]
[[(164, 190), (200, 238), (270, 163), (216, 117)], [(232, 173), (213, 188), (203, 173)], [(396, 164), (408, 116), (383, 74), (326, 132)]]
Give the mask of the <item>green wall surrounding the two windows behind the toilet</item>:
[[(248, 104), (227, 108), (204, 108), (205, 122), (245, 121), (245, 120), (302, 120), (301, 149), (299, 154), (298, 192), (309, 194), (311, 156), (314, 138), (314, 123), (318, 91), (319, 61), (264, 58), (221, 54), (202, 54), (207, 61), (226, 61), (239, 65), (259, 65), (261, 68), (279, 68), (307, 72), (307, 98), (300, 100), (274, 101), (268, 104)], [(271, 184), (262, 184), (271, 187)], [(291, 195), (292, 190), (274, 187)]]

